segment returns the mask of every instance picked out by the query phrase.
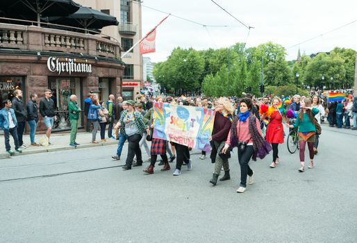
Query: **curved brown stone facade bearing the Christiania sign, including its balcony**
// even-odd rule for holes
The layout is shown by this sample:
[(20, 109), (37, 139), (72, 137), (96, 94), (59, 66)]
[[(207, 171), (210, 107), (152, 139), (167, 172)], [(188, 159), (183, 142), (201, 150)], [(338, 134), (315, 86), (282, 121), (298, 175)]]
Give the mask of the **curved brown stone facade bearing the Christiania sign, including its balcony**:
[[(0, 101), (11, 99), (13, 91), (24, 93), (24, 103), (30, 94), (44, 97), (44, 90), (53, 92), (56, 104), (54, 131), (70, 128), (68, 103), (76, 94), (84, 108), (88, 92), (101, 100), (109, 94), (122, 94), (124, 62), (120, 45), (106, 38), (83, 33), (38, 26), (0, 23)], [(84, 126), (84, 114), (79, 126)], [(44, 130), (39, 116), (39, 129)]]

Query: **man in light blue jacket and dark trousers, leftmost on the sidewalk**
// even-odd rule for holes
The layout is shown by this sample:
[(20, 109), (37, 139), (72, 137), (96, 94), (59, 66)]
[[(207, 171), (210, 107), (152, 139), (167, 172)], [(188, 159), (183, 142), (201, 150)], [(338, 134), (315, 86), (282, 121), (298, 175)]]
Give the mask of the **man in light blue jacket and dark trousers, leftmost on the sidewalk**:
[(22, 153), (22, 150), (19, 148), (19, 138), (17, 137), (17, 119), (15, 111), (11, 108), (10, 99), (3, 101), (3, 106), (4, 108), (0, 110), (0, 129), (3, 130), (6, 152), (10, 156), (13, 156), (15, 152), (11, 150), (10, 134), (14, 139), (15, 151)]

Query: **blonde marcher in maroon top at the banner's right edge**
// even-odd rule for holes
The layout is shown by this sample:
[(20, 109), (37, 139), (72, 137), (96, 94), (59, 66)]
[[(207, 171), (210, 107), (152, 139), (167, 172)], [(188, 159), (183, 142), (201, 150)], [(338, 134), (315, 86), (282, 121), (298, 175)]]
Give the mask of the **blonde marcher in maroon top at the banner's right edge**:
[[(221, 97), (218, 99), (217, 106), (215, 106), (215, 123), (213, 124), (212, 136), (209, 138), (211, 141), (212, 152), (211, 158), (215, 154), (215, 169), (213, 171), (213, 177), (210, 179), (210, 183), (213, 185), (217, 184), (217, 179), (219, 172), (224, 168), (224, 176), (219, 179), (219, 181), (226, 181), (231, 179), (229, 174), (229, 162), (226, 156), (222, 156), (222, 149), (226, 143), (228, 133), (231, 129), (231, 124), (233, 121), (234, 108), (229, 99)], [(215, 151), (215, 152), (213, 152)], [(223, 158), (222, 158), (223, 157)]]

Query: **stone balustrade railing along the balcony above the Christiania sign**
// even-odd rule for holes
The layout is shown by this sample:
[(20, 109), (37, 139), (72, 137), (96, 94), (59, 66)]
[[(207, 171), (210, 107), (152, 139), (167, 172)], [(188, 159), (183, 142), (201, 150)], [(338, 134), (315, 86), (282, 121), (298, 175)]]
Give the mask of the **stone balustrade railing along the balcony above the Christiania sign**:
[(119, 42), (99, 35), (54, 28), (0, 23), (0, 48), (25, 51), (56, 51), (117, 58)]

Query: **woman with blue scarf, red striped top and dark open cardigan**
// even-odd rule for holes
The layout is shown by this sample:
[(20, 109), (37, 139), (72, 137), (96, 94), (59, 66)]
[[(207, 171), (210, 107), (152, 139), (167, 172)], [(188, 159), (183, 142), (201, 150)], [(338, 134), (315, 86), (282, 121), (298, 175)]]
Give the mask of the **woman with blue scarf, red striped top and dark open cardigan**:
[(226, 153), (228, 149), (238, 146), (238, 161), (240, 163), (240, 187), (238, 187), (238, 193), (245, 192), (247, 176), (249, 176), (248, 184), (254, 183), (254, 171), (248, 165), (249, 160), (251, 158), (256, 160), (256, 157), (264, 158), (272, 149), (264, 140), (259, 119), (250, 112), (252, 106), (251, 99), (243, 98), (240, 100), (240, 113), (233, 119), (226, 144), (222, 149), (222, 153)]

